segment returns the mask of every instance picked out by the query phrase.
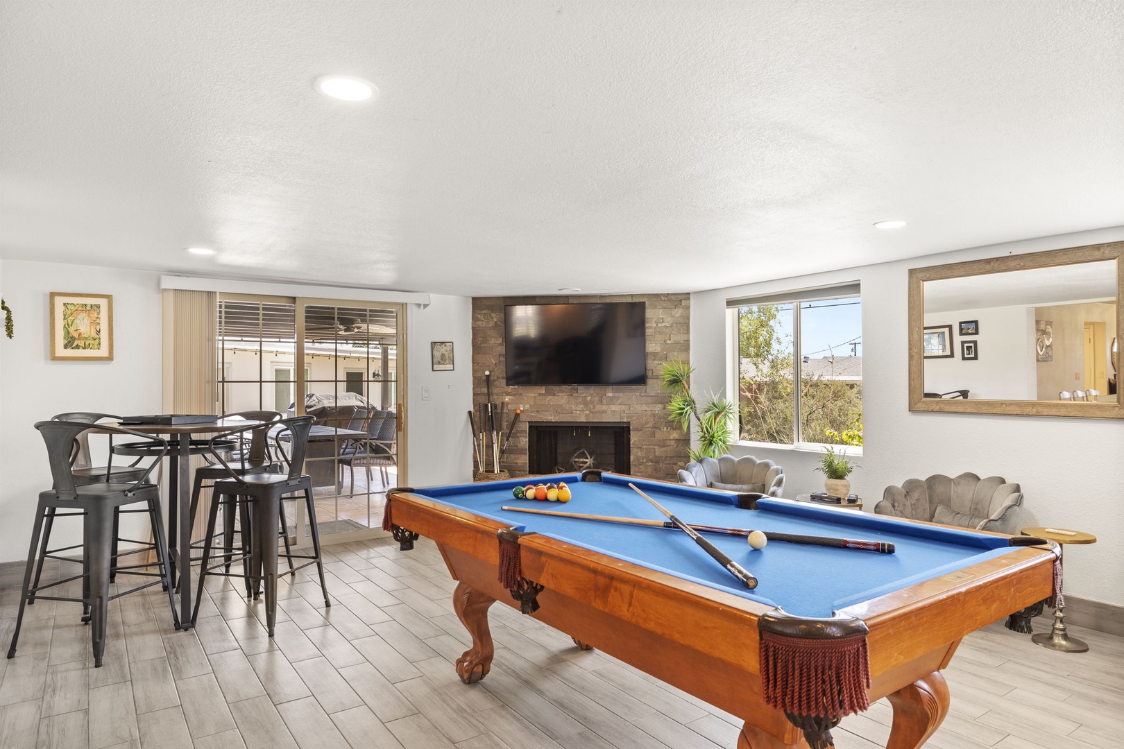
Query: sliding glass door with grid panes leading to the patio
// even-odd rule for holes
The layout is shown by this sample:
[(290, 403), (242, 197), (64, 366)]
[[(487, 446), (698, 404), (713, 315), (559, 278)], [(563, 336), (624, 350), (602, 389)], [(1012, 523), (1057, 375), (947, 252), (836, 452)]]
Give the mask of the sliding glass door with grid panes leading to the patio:
[[(303, 298), (218, 299), (218, 411), (316, 417), (305, 469), (321, 536), (381, 528), (400, 476), (402, 305)], [(287, 503), (289, 535), (308, 533)]]

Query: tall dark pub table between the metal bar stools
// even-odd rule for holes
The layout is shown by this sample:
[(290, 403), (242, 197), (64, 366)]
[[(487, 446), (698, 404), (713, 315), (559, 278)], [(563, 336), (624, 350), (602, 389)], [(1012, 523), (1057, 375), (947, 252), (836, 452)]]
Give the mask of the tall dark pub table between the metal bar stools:
[[(121, 426), (145, 435), (167, 435), (167, 552), (175, 570), (180, 573), (180, 627), (191, 629), (191, 438), (224, 432), (230, 429), (265, 424), (248, 419), (215, 419), (190, 423), (135, 423), (123, 419)], [(179, 439), (176, 439), (179, 438)], [(174, 579), (174, 575), (172, 576)]]

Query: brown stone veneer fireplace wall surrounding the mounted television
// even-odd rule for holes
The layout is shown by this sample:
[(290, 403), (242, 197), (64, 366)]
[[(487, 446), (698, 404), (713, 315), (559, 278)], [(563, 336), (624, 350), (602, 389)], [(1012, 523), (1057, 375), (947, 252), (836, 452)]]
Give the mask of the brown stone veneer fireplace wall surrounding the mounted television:
[[(555, 302), (645, 302), (647, 345), (646, 385), (518, 385), (508, 386), (504, 360), (505, 304)], [(660, 369), (672, 359), (690, 358), (690, 295), (629, 294), (617, 296), (486, 296), (472, 300), (473, 404), (487, 399), (484, 372), (492, 373), (492, 401), (505, 403), (508, 421), (523, 409), (511, 435), (502, 467), (513, 476), (529, 471), (528, 426), (554, 422), (571, 426), (618, 423), (628, 426), (629, 457), (626, 471), (646, 478), (674, 481), (687, 463), (688, 439), (668, 420), (670, 393), (660, 387)], [(504, 424), (507, 429), (508, 424)], [(566, 467), (571, 455), (563, 456)], [(600, 456), (602, 450), (596, 449)], [(598, 458), (602, 459), (602, 458)], [(614, 458), (616, 459), (616, 458)], [(569, 468), (566, 468), (569, 471)]]

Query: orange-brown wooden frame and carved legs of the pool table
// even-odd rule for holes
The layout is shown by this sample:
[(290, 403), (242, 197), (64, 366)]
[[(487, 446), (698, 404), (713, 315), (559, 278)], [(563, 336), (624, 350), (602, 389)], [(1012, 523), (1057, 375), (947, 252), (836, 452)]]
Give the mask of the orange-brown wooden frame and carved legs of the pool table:
[[(392, 522), (433, 539), (457, 581), (453, 604), (472, 647), (456, 673), (471, 684), (491, 666), (489, 606), (519, 608), (497, 577), (497, 532), (509, 524), (413, 491), (388, 492)], [(771, 606), (541, 535), (522, 537), (519, 548), (523, 577), (543, 586), (529, 615), (743, 719), (740, 749), (808, 746), (761, 694), (758, 621)], [(839, 612), (870, 630), (868, 696), (894, 707), (888, 749), (913, 749), (932, 736), (949, 711), (941, 669), (960, 640), (1048, 597), (1054, 556), (1015, 549)]]

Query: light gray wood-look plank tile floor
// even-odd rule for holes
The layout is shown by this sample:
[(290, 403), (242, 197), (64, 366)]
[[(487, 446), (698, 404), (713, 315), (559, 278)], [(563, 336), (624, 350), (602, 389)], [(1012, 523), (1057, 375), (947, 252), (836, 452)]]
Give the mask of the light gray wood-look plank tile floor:
[[(111, 605), (105, 666), (92, 668), (78, 604), (28, 609), (0, 659), (3, 749), (390, 748), (713, 749), (740, 721), (506, 605), (491, 608), (491, 674), (466, 686), (453, 660), (469, 638), (425, 539), (327, 547), (324, 608), (308, 575), (280, 585), (273, 640), (237, 579), (212, 578), (196, 629), (176, 632), (166, 597)], [(305, 570), (308, 572), (308, 570)], [(58, 574), (57, 570), (48, 570)], [(19, 581), (0, 578), (0, 642)], [(1048, 625), (1035, 621), (1036, 630)], [(1124, 638), (1073, 628), (1090, 651), (1046, 650), (1000, 624), (964, 639), (945, 672), (952, 709), (936, 749), (1118, 749)], [(839, 749), (885, 746), (886, 701), (835, 729)]]

